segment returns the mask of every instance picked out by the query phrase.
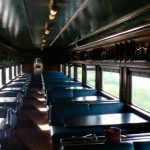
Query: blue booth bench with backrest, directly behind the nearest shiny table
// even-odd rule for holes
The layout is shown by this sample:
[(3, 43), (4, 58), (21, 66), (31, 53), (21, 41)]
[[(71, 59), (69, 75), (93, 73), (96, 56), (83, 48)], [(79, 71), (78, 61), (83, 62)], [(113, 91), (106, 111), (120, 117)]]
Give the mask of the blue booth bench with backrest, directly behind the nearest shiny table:
[(83, 136), (87, 134), (103, 135), (103, 127), (64, 127), (63, 117), (75, 117), (84, 115), (97, 115), (109, 113), (122, 113), (128, 111), (121, 102), (107, 103), (54, 103), (50, 109), (51, 137), (58, 140), (63, 137)]

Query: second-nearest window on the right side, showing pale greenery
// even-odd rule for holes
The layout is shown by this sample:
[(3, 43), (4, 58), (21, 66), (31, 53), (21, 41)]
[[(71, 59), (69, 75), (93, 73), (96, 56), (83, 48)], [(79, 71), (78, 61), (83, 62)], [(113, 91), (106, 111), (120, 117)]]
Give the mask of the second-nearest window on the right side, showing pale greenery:
[(102, 90), (119, 97), (119, 73), (102, 71)]

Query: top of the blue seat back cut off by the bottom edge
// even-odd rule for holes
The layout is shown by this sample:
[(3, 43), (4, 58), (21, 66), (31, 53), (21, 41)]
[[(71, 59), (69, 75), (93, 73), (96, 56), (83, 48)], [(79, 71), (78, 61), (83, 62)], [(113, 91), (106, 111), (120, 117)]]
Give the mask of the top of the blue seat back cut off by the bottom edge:
[(150, 150), (150, 140), (148, 141), (126, 141), (119, 143), (86, 143), (86, 144), (66, 144), (60, 150)]

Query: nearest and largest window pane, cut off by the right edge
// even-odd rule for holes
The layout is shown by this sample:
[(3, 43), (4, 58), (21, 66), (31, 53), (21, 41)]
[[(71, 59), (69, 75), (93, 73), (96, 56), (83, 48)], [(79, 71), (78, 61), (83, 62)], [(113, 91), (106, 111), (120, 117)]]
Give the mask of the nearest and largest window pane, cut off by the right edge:
[(132, 76), (131, 101), (146, 111), (150, 112), (150, 78)]

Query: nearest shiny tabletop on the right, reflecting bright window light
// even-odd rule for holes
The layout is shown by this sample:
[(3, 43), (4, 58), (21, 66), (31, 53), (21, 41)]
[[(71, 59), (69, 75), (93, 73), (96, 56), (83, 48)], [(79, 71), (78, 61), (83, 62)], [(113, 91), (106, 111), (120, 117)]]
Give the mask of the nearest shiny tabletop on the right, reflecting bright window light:
[(148, 123), (148, 120), (135, 113), (113, 113), (101, 115), (83, 115), (62, 118), (64, 127), (121, 126)]

